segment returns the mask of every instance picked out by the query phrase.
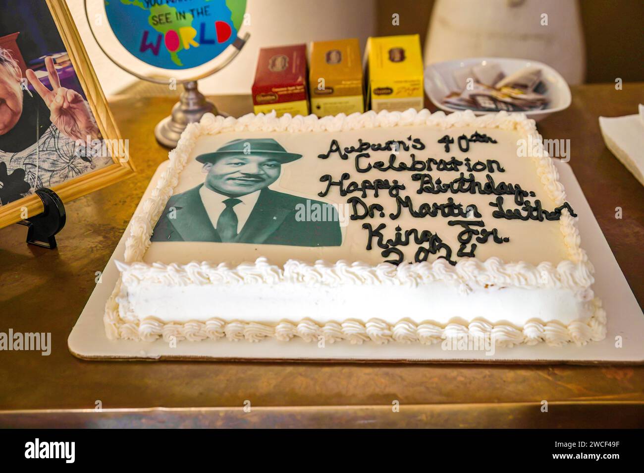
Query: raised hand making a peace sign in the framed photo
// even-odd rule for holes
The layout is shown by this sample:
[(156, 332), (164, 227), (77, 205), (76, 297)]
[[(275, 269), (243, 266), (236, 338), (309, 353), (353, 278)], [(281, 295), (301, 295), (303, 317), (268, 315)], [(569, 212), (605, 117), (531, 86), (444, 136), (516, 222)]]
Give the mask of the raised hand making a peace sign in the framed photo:
[(61, 80), (51, 57), (46, 57), (44, 64), (53, 90), (46, 88), (31, 69), (26, 71), (26, 76), (48, 106), (52, 123), (63, 135), (73, 140), (84, 141), (88, 135), (90, 139), (97, 139), (99, 130), (82, 95), (75, 90), (61, 87)]

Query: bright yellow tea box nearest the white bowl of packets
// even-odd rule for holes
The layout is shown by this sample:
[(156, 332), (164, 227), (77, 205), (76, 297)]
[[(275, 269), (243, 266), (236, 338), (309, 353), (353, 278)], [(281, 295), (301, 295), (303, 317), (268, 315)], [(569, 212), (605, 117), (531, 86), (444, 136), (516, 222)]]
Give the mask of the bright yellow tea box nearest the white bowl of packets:
[(423, 108), (419, 35), (370, 37), (365, 60), (366, 93), (371, 110)]

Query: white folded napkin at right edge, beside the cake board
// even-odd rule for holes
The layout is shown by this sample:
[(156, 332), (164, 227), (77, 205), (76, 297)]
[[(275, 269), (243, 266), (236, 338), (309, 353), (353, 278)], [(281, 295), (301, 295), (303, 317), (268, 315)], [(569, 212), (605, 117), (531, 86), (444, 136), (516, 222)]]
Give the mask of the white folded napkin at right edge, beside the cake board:
[(644, 105), (638, 115), (600, 117), (606, 147), (644, 186)]

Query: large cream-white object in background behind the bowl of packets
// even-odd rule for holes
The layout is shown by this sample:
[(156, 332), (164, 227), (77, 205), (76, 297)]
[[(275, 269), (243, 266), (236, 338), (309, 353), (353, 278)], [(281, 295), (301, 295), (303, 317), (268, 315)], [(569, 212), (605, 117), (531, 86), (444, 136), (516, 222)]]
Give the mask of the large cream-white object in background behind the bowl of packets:
[(569, 84), (585, 77), (576, 0), (436, 0), (424, 63), (478, 56), (549, 64)]

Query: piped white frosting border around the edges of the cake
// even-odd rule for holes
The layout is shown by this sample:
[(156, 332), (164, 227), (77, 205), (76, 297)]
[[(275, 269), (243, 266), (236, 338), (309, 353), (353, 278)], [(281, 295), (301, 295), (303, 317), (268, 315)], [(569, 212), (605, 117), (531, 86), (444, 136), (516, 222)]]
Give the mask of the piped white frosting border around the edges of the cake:
[[(250, 113), (239, 119), (234, 119), (232, 117), (215, 117), (211, 113), (207, 113), (199, 123), (193, 123), (187, 126), (175, 150), (170, 151), (169, 166), (167, 166), (164, 173), (160, 176), (152, 191), (151, 197), (142, 202), (142, 206), (137, 209), (137, 212), (132, 218), (129, 237), (126, 240), (124, 262), (117, 262), (121, 276), (118, 280), (117, 287), (115, 287), (106, 305), (104, 322), (108, 338), (147, 340), (150, 338), (151, 333), (156, 333), (156, 336), (162, 334), (165, 336), (166, 333), (163, 327), (158, 327), (158, 323), (162, 322), (153, 318), (147, 318), (143, 322), (138, 323), (126, 322), (118, 316), (116, 298), (118, 293), (120, 293), (122, 281), (127, 282), (128, 285), (137, 284), (137, 281), (140, 280), (146, 280), (146, 282), (154, 282), (156, 284), (236, 284), (244, 282), (275, 284), (279, 281), (295, 281), (303, 284), (323, 285), (336, 285), (343, 284), (344, 282), (351, 282), (353, 284), (426, 284), (433, 281), (444, 281), (458, 285), (459, 289), (464, 292), (480, 287), (488, 287), (489, 285), (511, 285), (524, 287), (526, 289), (556, 287), (574, 291), (580, 300), (593, 300), (591, 290), (592, 282), (594, 282), (592, 265), (588, 261), (585, 251), (580, 247), (580, 235), (575, 224), (575, 218), (566, 209), (562, 211), (560, 228), (564, 235), (564, 242), (567, 247), (569, 259), (560, 262), (556, 266), (549, 262), (544, 262), (536, 266), (525, 262), (504, 263), (499, 258), (489, 258), (485, 262), (481, 262), (476, 258), (467, 258), (460, 260), (454, 266), (444, 260), (435, 260), (432, 263), (401, 264), (398, 266), (387, 263), (368, 265), (360, 262), (348, 263), (346, 261), (339, 261), (335, 264), (319, 261), (314, 264), (309, 264), (289, 260), (283, 267), (269, 264), (266, 258), (258, 258), (254, 263), (244, 263), (234, 268), (229, 267), (225, 263), (216, 264), (213, 262), (192, 262), (187, 265), (177, 265), (162, 263), (146, 264), (142, 261), (144, 254), (151, 244), (150, 238), (154, 224), (165, 208), (167, 200), (171, 197), (173, 189), (178, 183), (179, 174), (184, 169), (196, 140), (202, 135), (242, 131), (289, 131), (290, 133), (306, 133), (310, 131), (338, 132), (393, 126), (429, 126), (442, 130), (457, 127), (517, 130), (524, 133), (526, 138), (531, 137), (533, 143), (542, 142), (541, 135), (536, 131), (535, 121), (526, 119), (526, 116), (522, 113), (508, 114), (506, 112), (500, 112), (493, 115), (476, 117), (469, 110), (445, 115), (442, 111), (432, 114), (428, 110), (415, 111), (410, 109), (404, 112), (381, 111), (375, 113), (374, 111), (368, 111), (366, 113), (354, 113), (348, 116), (339, 114), (334, 117), (324, 117), (322, 119), (317, 118), (316, 115), (308, 115), (307, 117), (297, 115), (296, 117), (291, 117), (288, 114), (278, 118), (274, 112), (266, 115), (262, 113), (259, 115)], [(549, 197), (557, 206), (560, 206), (565, 202), (566, 198), (564, 186), (559, 182), (559, 175), (554, 167), (553, 160), (543, 150), (543, 147), (539, 147), (538, 151), (538, 153), (533, 153), (537, 174), (541, 178)], [(603, 338), (605, 334), (605, 314), (603, 314), (600, 302), (598, 300), (596, 301), (594, 303), (596, 309), (592, 311), (592, 316), (587, 320), (570, 323), (565, 327), (568, 333), (565, 336), (559, 337), (558, 340), (565, 338), (567, 342), (585, 343), (589, 340), (601, 340)], [(151, 321), (154, 321), (154, 323)], [(244, 327), (261, 325), (233, 321), (227, 322), (227, 325), (231, 323), (238, 323)], [(496, 328), (487, 322), (480, 323), (483, 325), (480, 327), (477, 325), (477, 333), (480, 332), (483, 326), (489, 326), (489, 331), (484, 331), (486, 333), (493, 333)], [(543, 333), (546, 332), (549, 323), (545, 325), (538, 322), (535, 323), (540, 325), (540, 327), (534, 325), (536, 327), (535, 329), (538, 328)], [(133, 324), (138, 325), (138, 327), (133, 326)], [(167, 327), (173, 327), (168, 328), (167, 331), (176, 332), (176, 334), (184, 336), (187, 340), (191, 340), (192, 338), (190, 336), (185, 335), (186, 327), (193, 327), (193, 325), (188, 324), (197, 324), (200, 326), (200, 331), (205, 330), (204, 322), (187, 322), (185, 324), (162, 323), (162, 325), (167, 325)], [(180, 325), (185, 325), (186, 327), (178, 328)], [(442, 330), (448, 330), (448, 327), (451, 325), (453, 324), (442, 327)], [(526, 327), (528, 325), (530, 324), (527, 324)], [(561, 324), (556, 325), (562, 326)], [(157, 327), (157, 329), (150, 331), (149, 327)], [(269, 326), (262, 325), (262, 327)], [(526, 327), (524, 327), (524, 330)], [(383, 333), (391, 332), (393, 334), (395, 332), (393, 329), (395, 327), (383, 327)], [(244, 328), (244, 331), (246, 330)], [(279, 338), (275, 330), (275, 327), (269, 327), (269, 329), (261, 329), (260, 332), (265, 334), (264, 336), (276, 336)], [(516, 331), (517, 329), (513, 328), (513, 330)], [(269, 334), (271, 331), (272, 335)], [(297, 331), (295, 334), (298, 334)], [(232, 338), (236, 339), (237, 337), (233, 336)], [(254, 340), (256, 337), (252, 335), (249, 338), (244, 335), (244, 338)], [(372, 340), (374, 339), (373, 337), (370, 338)], [(518, 338), (518, 336), (515, 337), (516, 340)], [(527, 336), (524, 342), (536, 340), (537, 338), (539, 337)], [(349, 340), (350, 338), (345, 336), (344, 338), (339, 337), (338, 339)], [(422, 342), (418, 335), (416, 336), (416, 340)], [(546, 338), (539, 338), (539, 340), (548, 342)]]

